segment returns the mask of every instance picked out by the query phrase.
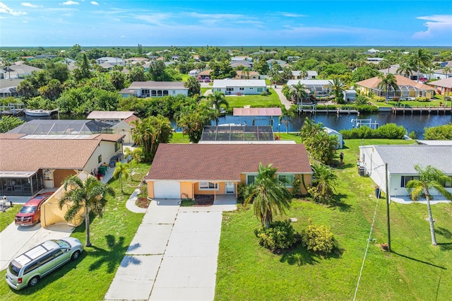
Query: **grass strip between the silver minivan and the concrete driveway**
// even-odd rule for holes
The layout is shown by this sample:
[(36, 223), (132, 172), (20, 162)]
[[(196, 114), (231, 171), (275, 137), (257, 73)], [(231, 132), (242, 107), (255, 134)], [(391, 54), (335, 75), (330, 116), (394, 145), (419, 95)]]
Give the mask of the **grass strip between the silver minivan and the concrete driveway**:
[[(143, 213), (131, 213), (126, 209), (126, 200), (140, 184), (149, 170), (148, 164), (133, 165), (136, 174), (133, 181), (124, 181), (124, 194), (118, 180), (109, 184), (116, 197), (108, 197), (103, 218), (92, 216), (90, 240), (93, 247), (85, 247), (76, 261), (71, 261), (42, 278), (33, 288), (13, 290), (6, 281), (0, 281), (0, 300), (103, 300), (113, 281), (121, 260), (140, 225)], [(71, 235), (85, 244), (85, 224)], [(6, 271), (1, 271), (5, 278)]]

